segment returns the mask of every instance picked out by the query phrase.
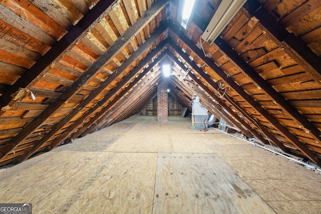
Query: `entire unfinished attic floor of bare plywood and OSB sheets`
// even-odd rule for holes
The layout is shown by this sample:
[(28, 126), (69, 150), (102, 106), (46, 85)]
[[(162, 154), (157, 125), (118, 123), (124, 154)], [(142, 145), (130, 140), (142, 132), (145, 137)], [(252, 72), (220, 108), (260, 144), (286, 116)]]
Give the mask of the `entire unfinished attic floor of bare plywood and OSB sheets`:
[(321, 175), (191, 118), (133, 116), (0, 171), (33, 213), (321, 213)]

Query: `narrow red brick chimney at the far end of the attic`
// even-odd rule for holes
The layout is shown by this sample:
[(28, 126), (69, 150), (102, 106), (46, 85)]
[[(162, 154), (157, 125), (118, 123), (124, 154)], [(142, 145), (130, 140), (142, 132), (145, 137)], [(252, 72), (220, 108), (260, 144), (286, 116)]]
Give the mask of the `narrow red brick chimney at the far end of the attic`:
[(157, 122), (167, 122), (168, 117), (167, 82), (163, 81), (157, 86)]

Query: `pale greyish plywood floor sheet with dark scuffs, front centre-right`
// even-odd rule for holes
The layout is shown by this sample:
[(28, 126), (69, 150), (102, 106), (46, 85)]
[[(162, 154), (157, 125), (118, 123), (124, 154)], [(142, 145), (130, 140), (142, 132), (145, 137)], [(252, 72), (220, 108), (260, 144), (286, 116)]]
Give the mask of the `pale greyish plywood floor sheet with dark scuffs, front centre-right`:
[(215, 154), (159, 153), (154, 192), (153, 213), (274, 213)]

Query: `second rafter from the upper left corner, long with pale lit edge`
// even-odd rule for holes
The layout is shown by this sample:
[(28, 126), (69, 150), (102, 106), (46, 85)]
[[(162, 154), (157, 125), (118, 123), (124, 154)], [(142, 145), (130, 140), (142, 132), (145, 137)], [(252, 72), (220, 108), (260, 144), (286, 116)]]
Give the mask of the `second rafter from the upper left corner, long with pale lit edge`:
[[(0, 151), (0, 161), (6, 157), (14, 148), (16, 148), (20, 142), (23, 142), (29, 134), (34, 132), (41, 124), (49, 117), (51, 117), (67, 100), (69, 100), (74, 94), (77, 93), (78, 89), (81, 88), (87, 81), (94, 78), (99, 71), (101, 71), (108, 62), (116, 56), (117, 53), (123, 49), (128, 42), (132, 40), (132, 37), (141, 31), (141, 29), (147, 25), (153, 17), (155, 17), (167, 4), (167, 1), (157, 1), (152, 5), (150, 9), (145, 12), (145, 15), (137, 20), (137, 22), (128, 29), (122, 37), (120, 37), (86, 72), (84, 72), (68, 89), (64, 92), (56, 101), (46, 108), (38, 117), (36, 117), (31, 123), (29, 123), (23, 131), (19, 132), (10, 142), (8, 142)], [(115, 72), (114, 72), (115, 73)], [(110, 79), (114, 79), (117, 74), (111, 74), (107, 82)], [(106, 82), (106, 81), (105, 81)], [(90, 94), (90, 97), (94, 94)], [(96, 97), (96, 96), (94, 96)], [(93, 98), (94, 98), (93, 97)], [(88, 97), (87, 97), (88, 98)], [(86, 99), (87, 99), (86, 98)], [(92, 98), (92, 99), (93, 99)]]

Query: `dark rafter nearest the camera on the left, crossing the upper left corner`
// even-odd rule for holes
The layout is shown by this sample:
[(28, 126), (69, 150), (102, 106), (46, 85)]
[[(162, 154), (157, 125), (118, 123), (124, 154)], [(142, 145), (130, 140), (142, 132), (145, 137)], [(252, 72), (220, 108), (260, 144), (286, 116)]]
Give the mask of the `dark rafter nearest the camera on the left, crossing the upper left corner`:
[[(84, 38), (99, 21), (107, 16), (111, 10), (113, 0), (99, 1), (85, 16), (73, 26), (51, 49), (44, 54), (28, 71), (26, 71), (12, 86), (10, 86), (0, 97), (0, 109), (9, 105), (12, 106), (17, 100), (12, 100), (11, 95), (19, 88), (30, 89), (44, 74), (71, 50), (79, 40)], [(2, 115), (5, 111), (0, 111)]]

